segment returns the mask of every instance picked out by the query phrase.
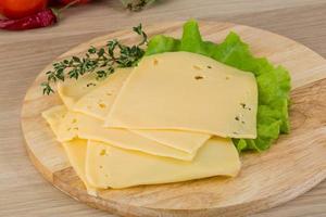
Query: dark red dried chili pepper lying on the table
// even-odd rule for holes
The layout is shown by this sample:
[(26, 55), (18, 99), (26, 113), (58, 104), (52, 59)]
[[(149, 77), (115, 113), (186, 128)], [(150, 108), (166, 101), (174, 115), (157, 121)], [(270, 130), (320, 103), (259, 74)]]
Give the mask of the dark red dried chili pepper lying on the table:
[(25, 30), (51, 26), (58, 22), (58, 15), (52, 9), (46, 9), (34, 15), (18, 20), (0, 20), (0, 29)]

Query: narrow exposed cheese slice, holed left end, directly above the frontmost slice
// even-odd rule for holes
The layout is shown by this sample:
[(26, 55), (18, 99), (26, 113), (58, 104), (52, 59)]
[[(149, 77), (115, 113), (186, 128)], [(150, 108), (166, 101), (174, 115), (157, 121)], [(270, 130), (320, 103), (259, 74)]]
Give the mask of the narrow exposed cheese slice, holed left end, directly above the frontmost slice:
[(67, 112), (60, 124), (58, 139), (61, 142), (74, 138), (102, 141), (122, 149), (136, 150), (153, 155), (191, 161), (196, 153), (183, 152), (147, 139), (126, 129), (109, 129), (103, 122), (76, 112)]

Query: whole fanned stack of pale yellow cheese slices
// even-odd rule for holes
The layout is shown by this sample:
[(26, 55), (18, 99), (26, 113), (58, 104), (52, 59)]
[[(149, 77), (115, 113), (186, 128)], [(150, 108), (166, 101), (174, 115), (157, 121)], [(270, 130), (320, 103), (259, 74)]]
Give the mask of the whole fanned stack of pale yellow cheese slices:
[(171, 52), (60, 84), (64, 105), (43, 112), (89, 192), (236, 176), (230, 138), (256, 137), (250, 73), (203, 55)]

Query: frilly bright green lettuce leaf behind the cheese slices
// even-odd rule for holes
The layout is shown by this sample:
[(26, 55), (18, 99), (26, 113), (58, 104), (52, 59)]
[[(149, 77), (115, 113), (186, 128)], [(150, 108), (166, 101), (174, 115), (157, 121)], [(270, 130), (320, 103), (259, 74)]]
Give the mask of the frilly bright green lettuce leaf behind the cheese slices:
[(280, 133), (290, 130), (288, 107), (290, 76), (283, 66), (274, 66), (265, 58), (254, 58), (249, 46), (236, 33), (220, 43), (204, 41), (196, 21), (184, 25), (181, 39), (158, 35), (148, 43), (146, 55), (188, 51), (212, 58), (226, 65), (254, 74), (259, 89), (256, 139), (233, 139), (238, 151), (267, 150)]

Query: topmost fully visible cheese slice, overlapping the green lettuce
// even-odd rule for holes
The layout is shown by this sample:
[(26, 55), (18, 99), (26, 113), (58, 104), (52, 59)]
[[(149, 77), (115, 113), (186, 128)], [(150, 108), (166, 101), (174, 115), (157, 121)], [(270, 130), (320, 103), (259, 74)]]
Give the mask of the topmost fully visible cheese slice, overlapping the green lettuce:
[(251, 73), (200, 54), (167, 52), (141, 60), (105, 126), (255, 138), (256, 107), (258, 88)]

